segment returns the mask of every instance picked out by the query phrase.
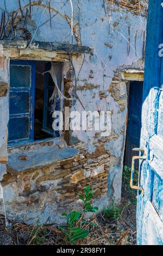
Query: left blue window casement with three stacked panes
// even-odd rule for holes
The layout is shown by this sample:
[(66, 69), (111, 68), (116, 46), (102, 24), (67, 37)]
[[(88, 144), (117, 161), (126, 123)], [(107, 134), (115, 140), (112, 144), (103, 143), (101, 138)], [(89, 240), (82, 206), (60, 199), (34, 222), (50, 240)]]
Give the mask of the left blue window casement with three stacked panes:
[(35, 66), (34, 61), (10, 61), (9, 145), (34, 138)]

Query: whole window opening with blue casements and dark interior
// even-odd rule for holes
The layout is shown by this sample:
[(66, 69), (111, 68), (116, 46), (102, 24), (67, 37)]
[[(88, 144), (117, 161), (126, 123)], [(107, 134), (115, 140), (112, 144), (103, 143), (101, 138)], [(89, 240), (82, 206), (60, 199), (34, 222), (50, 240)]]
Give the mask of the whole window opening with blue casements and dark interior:
[[(61, 88), (61, 63), (56, 62), (54, 68)], [(60, 100), (52, 76), (46, 72), (50, 69), (49, 62), (10, 62), (9, 145), (59, 137), (52, 128), (52, 114), (60, 109)], [(52, 95), (55, 101), (50, 101)]]

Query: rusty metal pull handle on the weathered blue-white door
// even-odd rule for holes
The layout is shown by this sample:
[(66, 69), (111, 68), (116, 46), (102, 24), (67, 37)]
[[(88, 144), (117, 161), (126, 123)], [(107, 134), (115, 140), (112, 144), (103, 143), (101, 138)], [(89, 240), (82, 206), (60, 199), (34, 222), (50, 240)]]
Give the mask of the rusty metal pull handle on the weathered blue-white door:
[(146, 153), (145, 153), (145, 150), (139, 149), (139, 148), (134, 148), (133, 151), (141, 151), (143, 153), (143, 155), (142, 156), (133, 156), (132, 157), (130, 187), (133, 188), (134, 190), (140, 190), (141, 194), (142, 194), (142, 197), (143, 197), (143, 195), (144, 195), (143, 188), (139, 187), (139, 186), (133, 185), (133, 180), (134, 180), (135, 160), (137, 160), (137, 159), (146, 159)]

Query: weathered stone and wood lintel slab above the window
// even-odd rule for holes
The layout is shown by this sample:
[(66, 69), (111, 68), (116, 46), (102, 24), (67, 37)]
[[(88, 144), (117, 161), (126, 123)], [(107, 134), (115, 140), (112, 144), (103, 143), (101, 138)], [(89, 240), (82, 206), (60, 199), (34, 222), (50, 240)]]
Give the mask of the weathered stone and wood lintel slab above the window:
[[(26, 56), (29, 60), (32, 60), (35, 56), (37, 60), (69, 62), (70, 53), (90, 54), (93, 51), (88, 46), (62, 44), (60, 42), (33, 41), (29, 45), (28, 41), (1, 40), (1, 45), (3, 45), (4, 57), (11, 59), (18, 56), (23, 59)], [(41, 55), (40, 52), (42, 53)], [(57, 53), (61, 53), (61, 55), (57, 55)]]

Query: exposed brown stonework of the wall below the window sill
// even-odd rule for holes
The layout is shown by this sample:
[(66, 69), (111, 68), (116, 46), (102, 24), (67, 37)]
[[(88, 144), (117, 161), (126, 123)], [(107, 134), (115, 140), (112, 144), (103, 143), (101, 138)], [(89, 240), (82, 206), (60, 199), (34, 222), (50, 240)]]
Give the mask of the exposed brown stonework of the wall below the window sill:
[(81, 208), (77, 193), (89, 184), (94, 191), (94, 203), (100, 209), (108, 204), (108, 170), (116, 158), (109, 157), (103, 145), (98, 144), (93, 155), (88, 154), (84, 146), (78, 144), (78, 155), (51, 166), (4, 175), (7, 216), (29, 224), (37, 217), (41, 223), (61, 223), (63, 211)]

